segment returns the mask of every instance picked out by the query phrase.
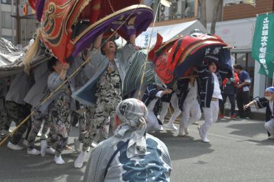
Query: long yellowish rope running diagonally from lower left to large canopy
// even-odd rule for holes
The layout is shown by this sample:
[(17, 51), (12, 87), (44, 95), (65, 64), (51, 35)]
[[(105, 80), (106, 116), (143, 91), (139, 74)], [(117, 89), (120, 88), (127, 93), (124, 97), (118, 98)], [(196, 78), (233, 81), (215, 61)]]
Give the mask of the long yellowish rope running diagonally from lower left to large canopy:
[[(121, 23), (121, 25), (112, 33), (112, 35), (107, 39), (107, 41), (105, 41), (105, 42), (108, 42), (108, 40), (110, 40), (110, 38), (112, 38), (112, 36), (114, 36), (115, 34), (116, 34), (116, 31), (118, 31), (122, 26), (123, 26), (123, 24), (125, 23), (125, 22), (127, 22), (127, 20), (130, 18), (130, 16), (132, 16), (132, 14), (134, 13), (134, 12), (136, 12), (136, 10), (137, 10), (137, 8), (139, 7), (139, 5), (140, 4), (138, 4), (138, 6), (136, 7), (136, 9), (134, 10), (134, 11), (132, 11), (130, 14), (129, 14), (129, 16), (127, 16), (127, 18), (125, 19), (125, 21), (123, 21), (123, 23)], [(103, 45), (105, 44), (105, 42), (103, 43), (103, 44), (101, 44), (101, 46), (92, 54), (92, 55), (94, 55), (95, 53), (97, 53), (97, 51), (99, 51), (99, 50), (101, 50), (101, 47), (103, 47)], [(69, 79), (71, 79), (71, 77), (73, 77), (76, 73), (78, 73), (78, 71), (85, 65), (85, 64), (87, 64), (88, 62), (91, 62), (91, 57), (92, 57), (92, 55), (90, 55), (88, 58), (86, 58), (86, 60), (66, 79), (66, 80), (64, 80), (64, 82), (63, 83), (61, 83), (60, 84), (60, 86), (58, 86), (58, 88), (56, 88), (53, 92), (51, 92), (51, 94), (49, 94), (49, 96), (46, 98), (46, 99), (44, 99), (44, 101), (42, 101), (41, 103), (40, 103), (40, 105), (38, 105), (38, 107), (36, 107), (36, 109), (34, 109), (24, 120), (22, 120), (21, 122), (20, 122), (20, 124), (9, 134), (9, 135), (7, 135), (1, 142), (0, 142), (0, 146), (5, 142), (5, 140), (8, 140), (8, 138), (15, 132), (15, 131), (17, 131), (17, 129), (19, 128), (19, 127), (21, 127), (22, 125), (24, 125), (25, 124), (25, 122), (27, 121), (27, 120), (29, 120), (29, 118), (30, 117), (32, 117), (32, 115), (34, 114), (34, 112), (36, 112), (36, 110), (39, 108), (39, 107), (41, 107), (45, 102), (47, 102), (52, 96), (53, 96), (53, 94), (55, 94), (56, 92), (58, 92), (58, 90), (60, 90), (60, 88), (62, 88), (62, 86), (64, 86), (64, 84), (66, 84), (68, 81), (69, 81)]]

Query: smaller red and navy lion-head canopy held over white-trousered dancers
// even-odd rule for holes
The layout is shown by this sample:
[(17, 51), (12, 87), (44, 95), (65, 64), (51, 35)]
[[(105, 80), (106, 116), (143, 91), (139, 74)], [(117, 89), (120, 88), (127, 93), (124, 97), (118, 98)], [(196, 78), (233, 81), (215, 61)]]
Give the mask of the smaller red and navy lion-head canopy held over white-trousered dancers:
[(163, 44), (161, 48), (155, 51), (153, 57), (154, 70), (166, 84), (191, 75), (192, 68), (201, 66), (204, 60), (215, 62), (232, 74), (230, 51), (227, 44), (217, 36), (183, 36)]

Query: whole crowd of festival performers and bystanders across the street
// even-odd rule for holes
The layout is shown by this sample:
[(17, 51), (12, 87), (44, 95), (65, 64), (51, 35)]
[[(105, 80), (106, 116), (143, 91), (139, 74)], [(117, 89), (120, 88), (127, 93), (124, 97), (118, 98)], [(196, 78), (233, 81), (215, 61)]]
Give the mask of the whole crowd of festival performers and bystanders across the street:
[[(160, 140), (147, 133), (163, 130), (164, 117), (171, 103), (174, 112), (166, 127), (178, 130), (179, 137), (188, 135), (188, 126), (200, 120), (203, 112), (204, 122), (198, 127), (198, 131), (202, 142), (210, 142), (208, 130), (218, 118), (223, 118), (227, 96), (231, 103), (230, 118), (236, 118), (235, 92), (240, 118), (251, 117), (250, 105), (267, 107), (269, 117), (266, 120), (271, 122), (266, 122), (265, 127), (270, 138), (274, 137), (274, 88), (266, 90), (265, 98), (249, 103), (251, 80), (240, 65), (234, 66), (235, 73), (230, 77), (216, 62), (206, 59), (203, 60), (203, 66), (193, 69), (193, 75), (178, 79), (172, 88), (168, 88), (156, 77), (155, 83), (145, 88), (140, 99), (142, 102), (137, 99), (123, 100), (122, 86), (125, 72), (130, 66), (129, 57), (136, 51), (135, 38), (133, 34), (123, 48), (117, 49), (113, 40), (103, 42), (101, 47), (103, 35), (98, 36), (88, 52), (92, 55), (91, 62), (66, 83), (66, 78), (88, 56), (79, 54), (71, 64), (61, 63), (52, 57), (48, 62), (29, 70), (29, 73), (22, 72), (12, 77), (9, 88), (8, 80), (1, 78), (1, 133), (8, 134), (12, 121), (18, 126), (32, 113), (32, 118), (18, 127), (12, 135), (8, 148), (23, 150), (19, 141), (27, 133), (23, 142), (27, 145), (27, 154), (42, 157), (51, 154), (54, 155), (55, 164), (64, 164), (62, 151), (69, 149), (71, 113), (77, 111), (79, 138), (75, 140), (75, 149), (79, 151), (79, 155), (75, 159), (75, 168), (82, 168), (95, 136), (98, 136), (100, 142), (92, 150), (88, 162), (88, 168), (92, 169), (91, 173), (86, 174), (88, 181), (121, 177), (124, 181), (131, 181), (134, 175), (130, 172), (135, 174), (134, 170), (140, 171), (140, 168), (147, 172), (140, 174), (140, 177), (135, 176), (141, 181), (144, 177), (168, 181), (172, 168), (169, 152)], [(96, 72), (101, 73), (98, 80), (95, 79)], [(90, 79), (94, 79), (97, 96), (95, 105), (76, 104), (71, 95)], [(62, 83), (64, 84), (56, 92), (56, 88)], [(46, 99), (49, 94), (52, 96)], [(182, 118), (177, 129), (173, 122), (180, 114)], [(39, 151), (35, 140), (42, 123)], [(79, 143), (82, 143), (82, 148), (79, 148)], [(118, 152), (120, 157), (116, 157)], [(154, 166), (151, 168), (144, 167), (152, 163)], [(120, 176), (116, 173), (121, 170), (120, 166), (129, 174)], [(155, 166), (158, 166), (157, 170)]]

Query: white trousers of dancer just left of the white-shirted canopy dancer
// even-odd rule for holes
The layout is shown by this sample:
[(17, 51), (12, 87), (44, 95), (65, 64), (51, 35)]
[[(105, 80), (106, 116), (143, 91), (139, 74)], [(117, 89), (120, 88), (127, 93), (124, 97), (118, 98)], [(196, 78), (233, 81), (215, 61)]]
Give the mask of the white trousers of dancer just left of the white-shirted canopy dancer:
[(192, 103), (184, 102), (183, 117), (180, 121), (179, 129), (183, 131), (185, 127), (201, 118), (201, 108), (197, 99)]

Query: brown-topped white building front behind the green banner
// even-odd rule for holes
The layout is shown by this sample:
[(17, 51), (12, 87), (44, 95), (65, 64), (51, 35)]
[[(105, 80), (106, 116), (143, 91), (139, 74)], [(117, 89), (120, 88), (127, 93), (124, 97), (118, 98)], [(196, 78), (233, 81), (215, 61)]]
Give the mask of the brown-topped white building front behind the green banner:
[(257, 0), (249, 5), (236, 0), (223, 1), (223, 21), (217, 23), (216, 34), (232, 44), (232, 55), (251, 76), (251, 96), (263, 96), (265, 88), (272, 86), (272, 79), (258, 74), (260, 64), (251, 57), (253, 33), (257, 14), (274, 11), (273, 0)]

